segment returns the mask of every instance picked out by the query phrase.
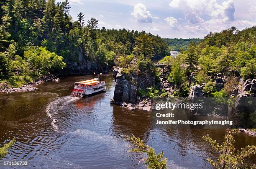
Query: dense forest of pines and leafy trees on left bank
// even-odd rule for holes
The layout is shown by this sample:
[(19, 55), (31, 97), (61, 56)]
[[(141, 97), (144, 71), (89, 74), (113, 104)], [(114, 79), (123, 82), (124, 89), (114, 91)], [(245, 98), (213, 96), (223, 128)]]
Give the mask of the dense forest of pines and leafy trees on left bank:
[(87, 61), (95, 65), (91, 72), (108, 70), (115, 58), (132, 53), (142, 35), (151, 38), (153, 56), (164, 57), (168, 51), (159, 36), (99, 29), (98, 20), (85, 22), (82, 12), (72, 18), (68, 0), (2, 0), (0, 9), (0, 80), (11, 86), (74, 67), (83, 69)]

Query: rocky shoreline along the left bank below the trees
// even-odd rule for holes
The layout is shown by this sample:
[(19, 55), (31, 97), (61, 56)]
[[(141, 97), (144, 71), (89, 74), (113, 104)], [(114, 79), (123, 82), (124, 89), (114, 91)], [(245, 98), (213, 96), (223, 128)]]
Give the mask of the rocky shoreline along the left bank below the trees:
[(33, 91), (36, 90), (37, 88), (35, 87), (36, 85), (39, 85), (43, 82), (47, 81), (55, 81), (59, 82), (59, 78), (57, 78), (54, 75), (48, 75), (48, 76), (41, 76), (38, 78), (38, 80), (34, 82), (30, 82), (26, 85), (22, 85), (21, 87), (9, 87), (7, 83), (1, 83), (0, 84), (0, 92), (2, 93), (13, 93), (13, 92), (28, 92), (28, 91)]

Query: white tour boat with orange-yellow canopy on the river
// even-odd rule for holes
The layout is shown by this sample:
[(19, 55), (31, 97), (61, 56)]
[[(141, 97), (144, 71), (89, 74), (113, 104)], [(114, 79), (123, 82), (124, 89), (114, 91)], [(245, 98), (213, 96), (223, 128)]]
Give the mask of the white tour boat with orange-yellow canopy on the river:
[(73, 97), (83, 97), (89, 94), (101, 92), (106, 89), (105, 81), (99, 81), (98, 78), (74, 83), (74, 89), (71, 93)]

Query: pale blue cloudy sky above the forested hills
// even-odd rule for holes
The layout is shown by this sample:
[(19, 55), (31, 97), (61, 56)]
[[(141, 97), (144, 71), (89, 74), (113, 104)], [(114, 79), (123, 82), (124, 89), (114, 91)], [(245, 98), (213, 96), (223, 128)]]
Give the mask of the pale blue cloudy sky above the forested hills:
[[(61, 0), (56, 0), (61, 1)], [(98, 27), (145, 30), (163, 38), (202, 38), (210, 31), (256, 25), (256, 0), (69, 0), (77, 20), (95, 17)]]

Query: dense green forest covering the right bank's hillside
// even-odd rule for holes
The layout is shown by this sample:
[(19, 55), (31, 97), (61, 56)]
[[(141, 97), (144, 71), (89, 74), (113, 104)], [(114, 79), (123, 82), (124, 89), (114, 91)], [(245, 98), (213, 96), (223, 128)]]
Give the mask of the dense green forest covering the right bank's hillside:
[[(190, 86), (202, 85), (206, 96), (231, 96), (239, 82), (256, 77), (256, 27), (210, 32), (199, 44), (190, 42), (177, 58), (166, 56), (161, 62), (171, 67), (174, 95), (188, 96)], [(217, 83), (224, 86), (217, 89)]]

